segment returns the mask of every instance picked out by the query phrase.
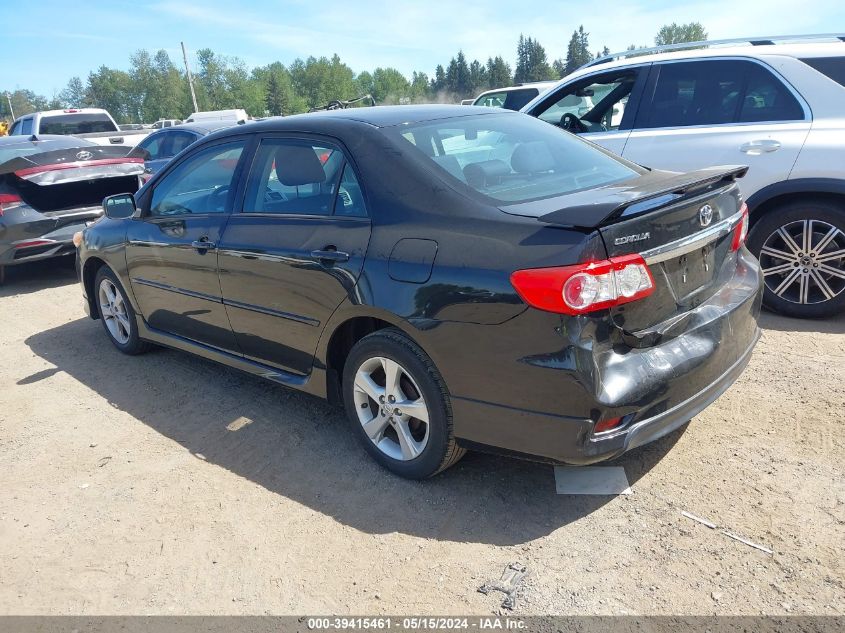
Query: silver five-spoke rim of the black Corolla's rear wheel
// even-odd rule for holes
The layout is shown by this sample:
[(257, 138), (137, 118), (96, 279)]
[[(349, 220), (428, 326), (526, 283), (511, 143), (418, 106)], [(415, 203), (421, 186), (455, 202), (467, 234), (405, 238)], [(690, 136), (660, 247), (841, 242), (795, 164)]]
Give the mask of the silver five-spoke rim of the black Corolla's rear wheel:
[(370, 358), (355, 373), (353, 393), (358, 421), (382, 453), (403, 462), (419, 457), (428, 444), (429, 411), (408, 370)]

